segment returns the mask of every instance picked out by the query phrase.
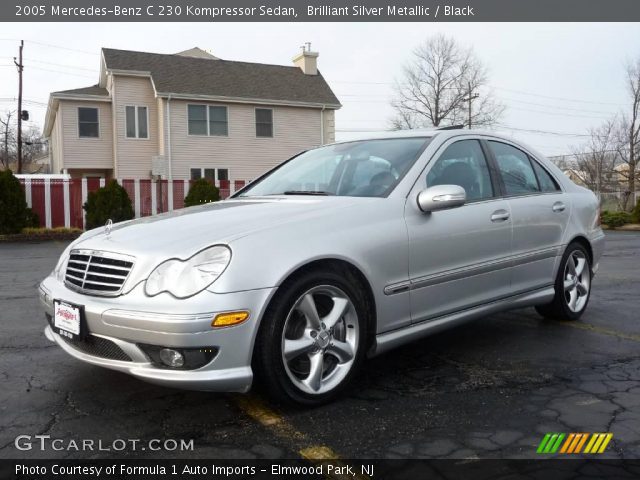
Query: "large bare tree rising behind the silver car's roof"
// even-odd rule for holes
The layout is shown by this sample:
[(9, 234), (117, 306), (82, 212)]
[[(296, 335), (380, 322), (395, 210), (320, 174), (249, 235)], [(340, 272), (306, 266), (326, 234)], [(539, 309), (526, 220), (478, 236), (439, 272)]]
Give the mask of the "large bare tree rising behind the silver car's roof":
[(486, 84), (486, 69), (472, 49), (444, 35), (431, 37), (414, 50), (396, 83), (390, 127), (491, 125), (504, 106), (490, 92), (481, 92)]

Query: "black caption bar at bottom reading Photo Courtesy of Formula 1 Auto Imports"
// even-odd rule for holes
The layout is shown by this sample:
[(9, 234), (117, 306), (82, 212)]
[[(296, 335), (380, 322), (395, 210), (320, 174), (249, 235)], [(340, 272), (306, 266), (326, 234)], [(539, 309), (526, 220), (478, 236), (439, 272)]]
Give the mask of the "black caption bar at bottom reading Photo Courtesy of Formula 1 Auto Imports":
[(640, 460), (0, 460), (1, 479), (640, 478)]

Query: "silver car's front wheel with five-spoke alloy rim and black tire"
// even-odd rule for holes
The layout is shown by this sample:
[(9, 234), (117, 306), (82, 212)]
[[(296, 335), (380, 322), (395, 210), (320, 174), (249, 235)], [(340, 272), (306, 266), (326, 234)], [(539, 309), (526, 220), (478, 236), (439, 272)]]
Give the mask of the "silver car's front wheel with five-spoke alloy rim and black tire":
[(269, 396), (313, 406), (349, 385), (366, 349), (366, 298), (348, 271), (307, 271), (282, 284), (263, 317), (252, 362)]

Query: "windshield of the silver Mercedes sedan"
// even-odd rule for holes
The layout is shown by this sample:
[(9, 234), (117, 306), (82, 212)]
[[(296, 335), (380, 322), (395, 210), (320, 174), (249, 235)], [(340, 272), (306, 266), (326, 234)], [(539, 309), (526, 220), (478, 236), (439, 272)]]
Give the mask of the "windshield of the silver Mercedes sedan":
[(238, 196), (384, 197), (404, 177), (429, 140), (393, 138), (320, 147), (283, 163)]

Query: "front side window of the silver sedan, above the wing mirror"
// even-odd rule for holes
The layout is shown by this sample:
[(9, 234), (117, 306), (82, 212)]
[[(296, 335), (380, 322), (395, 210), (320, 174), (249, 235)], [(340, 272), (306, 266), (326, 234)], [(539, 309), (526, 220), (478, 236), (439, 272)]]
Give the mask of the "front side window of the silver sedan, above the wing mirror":
[(480, 142), (461, 140), (449, 145), (427, 174), (427, 187), (435, 185), (459, 185), (469, 202), (492, 198), (491, 175)]

